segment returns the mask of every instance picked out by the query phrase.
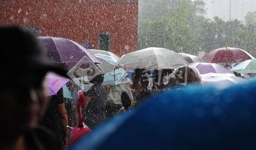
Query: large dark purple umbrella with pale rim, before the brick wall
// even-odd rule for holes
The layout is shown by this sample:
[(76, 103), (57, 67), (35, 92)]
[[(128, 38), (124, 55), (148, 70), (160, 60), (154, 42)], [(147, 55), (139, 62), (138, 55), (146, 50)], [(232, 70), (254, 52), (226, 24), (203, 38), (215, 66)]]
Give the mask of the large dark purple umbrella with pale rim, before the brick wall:
[(66, 67), (75, 66), (83, 56), (84, 61), (100, 63), (100, 61), (87, 49), (73, 40), (60, 37), (38, 37), (45, 47), (50, 62), (65, 63)]

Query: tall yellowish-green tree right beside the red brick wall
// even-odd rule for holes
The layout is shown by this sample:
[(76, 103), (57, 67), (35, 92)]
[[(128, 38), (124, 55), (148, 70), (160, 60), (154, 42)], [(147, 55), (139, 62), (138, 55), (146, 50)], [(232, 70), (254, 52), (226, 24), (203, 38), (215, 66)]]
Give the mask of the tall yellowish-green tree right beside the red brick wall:
[(163, 4), (166, 4), (162, 8), (164, 15), (147, 16), (140, 20), (139, 48), (164, 47), (177, 52), (195, 48), (196, 35), (190, 22), (200, 8), (187, 0), (173, 0), (171, 4), (166, 1)]

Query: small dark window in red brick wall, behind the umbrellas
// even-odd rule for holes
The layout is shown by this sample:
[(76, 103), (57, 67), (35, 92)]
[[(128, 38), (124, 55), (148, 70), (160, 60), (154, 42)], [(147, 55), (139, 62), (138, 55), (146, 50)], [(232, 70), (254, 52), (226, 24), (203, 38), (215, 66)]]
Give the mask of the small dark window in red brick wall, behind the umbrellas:
[(110, 33), (99, 33), (99, 50), (110, 51)]

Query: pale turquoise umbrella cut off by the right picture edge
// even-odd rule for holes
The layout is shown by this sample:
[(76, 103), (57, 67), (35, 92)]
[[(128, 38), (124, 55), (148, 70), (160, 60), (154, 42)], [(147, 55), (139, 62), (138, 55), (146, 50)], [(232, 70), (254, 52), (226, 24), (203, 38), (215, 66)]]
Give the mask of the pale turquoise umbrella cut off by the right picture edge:
[(237, 73), (256, 73), (256, 59), (245, 60), (229, 71)]

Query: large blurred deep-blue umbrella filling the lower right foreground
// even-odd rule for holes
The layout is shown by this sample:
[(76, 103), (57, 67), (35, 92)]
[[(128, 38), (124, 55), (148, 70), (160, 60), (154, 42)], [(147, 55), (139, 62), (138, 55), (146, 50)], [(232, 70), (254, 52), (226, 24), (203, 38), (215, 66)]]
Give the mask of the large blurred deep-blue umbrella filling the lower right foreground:
[(256, 81), (169, 89), (70, 149), (255, 149)]

